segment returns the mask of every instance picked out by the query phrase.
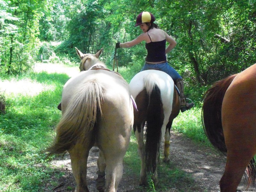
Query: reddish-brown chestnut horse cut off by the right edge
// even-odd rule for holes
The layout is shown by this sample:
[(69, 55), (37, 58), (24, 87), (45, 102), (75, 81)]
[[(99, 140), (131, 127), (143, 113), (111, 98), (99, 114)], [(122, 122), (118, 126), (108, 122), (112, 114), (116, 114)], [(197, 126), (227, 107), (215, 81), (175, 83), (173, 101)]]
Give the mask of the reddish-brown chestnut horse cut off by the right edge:
[(246, 168), (248, 181), (254, 181), (256, 64), (216, 82), (205, 93), (202, 122), (211, 143), (227, 154), (220, 191), (235, 192)]

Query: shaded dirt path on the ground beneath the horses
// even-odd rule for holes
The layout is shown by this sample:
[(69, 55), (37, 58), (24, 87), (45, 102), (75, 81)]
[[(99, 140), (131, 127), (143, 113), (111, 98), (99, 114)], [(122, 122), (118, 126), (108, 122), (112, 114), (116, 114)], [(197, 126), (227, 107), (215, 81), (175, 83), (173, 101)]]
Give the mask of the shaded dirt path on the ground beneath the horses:
[[(99, 149), (93, 147), (90, 151), (88, 159), (88, 187), (91, 192), (97, 192), (95, 189), (96, 185), (96, 171), (97, 171), (97, 157)], [(226, 159), (224, 156), (219, 155), (216, 151), (211, 148), (200, 146), (194, 143), (192, 140), (186, 138), (182, 134), (171, 132), (171, 147), (170, 147), (170, 158), (172, 164), (176, 168), (190, 173), (195, 180), (195, 186), (198, 192), (217, 192), (220, 191), (219, 180), (224, 172)], [(56, 180), (58, 184), (62, 186), (56, 188), (54, 191), (72, 191), (75, 188), (75, 180), (72, 175), (71, 163), (69, 156), (66, 155), (63, 160), (54, 160), (52, 165), (58, 167), (61, 172), (65, 172), (65, 175), (59, 180)], [(119, 184), (118, 192), (139, 192), (138, 180), (139, 178), (131, 177), (126, 174), (127, 166), (124, 164), (123, 178)], [(129, 170), (128, 170), (129, 171)], [(243, 182), (241, 182), (243, 183)], [(66, 189), (72, 187), (72, 189)], [(172, 188), (168, 189), (170, 192), (178, 192), (182, 190), (182, 181), (180, 182), (179, 189)], [(45, 186), (45, 191), (48, 186)], [(56, 186), (55, 186), (56, 187)], [(64, 190), (63, 190), (64, 189)], [(241, 184), (238, 189), (245, 190), (246, 187)], [(252, 191), (256, 191), (255, 187), (249, 188)]]

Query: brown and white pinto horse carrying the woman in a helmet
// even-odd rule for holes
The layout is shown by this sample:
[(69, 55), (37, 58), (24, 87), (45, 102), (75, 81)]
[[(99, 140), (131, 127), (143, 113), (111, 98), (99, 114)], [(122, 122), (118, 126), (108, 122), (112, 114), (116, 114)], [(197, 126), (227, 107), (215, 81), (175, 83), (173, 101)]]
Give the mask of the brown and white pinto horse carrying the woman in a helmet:
[(130, 82), (130, 90), (138, 108), (138, 111), (134, 110), (133, 130), (138, 140), (141, 160), (140, 185), (147, 183), (146, 174), (150, 171), (156, 185), (156, 164), (163, 138), (164, 161), (169, 161), (170, 129), (173, 119), (180, 112), (179, 93), (172, 78), (159, 70), (136, 74)]

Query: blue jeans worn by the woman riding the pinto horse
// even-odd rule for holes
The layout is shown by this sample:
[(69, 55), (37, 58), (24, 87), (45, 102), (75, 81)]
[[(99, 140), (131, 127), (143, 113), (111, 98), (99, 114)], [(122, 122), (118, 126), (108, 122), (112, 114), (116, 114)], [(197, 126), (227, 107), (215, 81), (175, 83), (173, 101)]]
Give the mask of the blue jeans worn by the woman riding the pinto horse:
[(163, 72), (167, 73), (169, 76), (171, 76), (175, 84), (176, 84), (177, 79), (182, 79), (180, 74), (173, 67), (171, 67), (167, 62), (160, 63), (160, 64), (145, 63), (145, 65), (143, 66), (143, 68), (140, 71), (145, 71), (145, 70), (154, 69), (154, 68), (157, 68), (160, 71), (163, 71)]

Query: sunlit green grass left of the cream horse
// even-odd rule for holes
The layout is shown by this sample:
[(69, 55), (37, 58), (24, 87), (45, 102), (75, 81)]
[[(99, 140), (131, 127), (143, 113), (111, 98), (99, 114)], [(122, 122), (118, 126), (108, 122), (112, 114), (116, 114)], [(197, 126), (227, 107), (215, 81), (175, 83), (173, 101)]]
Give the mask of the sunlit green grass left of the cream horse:
[(57, 105), (68, 78), (64, 74), (31, 73), (31, 80), (54, 89), (35, 96), (6, 96), (6, 114), (0, 115), (1, 191), (44, 191), (44, 182), (55, 174), (42, 150), (52, 142), (53, 127), (61, 116)]

